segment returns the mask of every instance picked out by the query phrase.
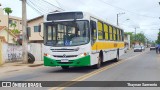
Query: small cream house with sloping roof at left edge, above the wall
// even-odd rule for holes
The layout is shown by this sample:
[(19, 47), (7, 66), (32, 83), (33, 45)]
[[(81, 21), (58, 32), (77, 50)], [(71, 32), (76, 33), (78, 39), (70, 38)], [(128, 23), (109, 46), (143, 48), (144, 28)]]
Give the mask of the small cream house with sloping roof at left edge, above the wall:
[(10, 43), (10, 44), (16, 44), (15, 41), (17, 40), (17, 37), (11, 31), (7, 30), (5, 26), (0, 26), (0, 38), (4, 42)]

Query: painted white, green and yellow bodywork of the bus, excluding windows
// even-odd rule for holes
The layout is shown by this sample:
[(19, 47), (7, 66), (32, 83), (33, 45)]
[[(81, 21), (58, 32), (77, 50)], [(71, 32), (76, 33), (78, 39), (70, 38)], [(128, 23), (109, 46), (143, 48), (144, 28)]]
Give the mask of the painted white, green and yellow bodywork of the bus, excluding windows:
[[(63, 12), (62, 12), (63, 13)], [(83, 13), (84, 17), (81, 20), (90, 20), (95, 21), (102, 21), (102, 19), (97, 19), (87, 13)], [(46, 19), (45, 19), (46, 20)], [(77, 19), (79, 20), (79, 19)], [(61, 20), (67, 21), (67, 20)], [(59, 21), (59, 22), (61, 22)], [(46, 21), (48, 22), (48, 21)], [(58, 20), (56, 21), (58, 22)], [(50, 22), (52, 23), (52, 22)], [(112, 24), (106, 23), (105, 24), (111, 25), (116, 27)], [(120, 29), (118, 27), (118, 29)], [(90, 30), (90, 29), (89, 29)], [(44, 65), (45, 66), (92, 66), (98, 63), (99, 53), (100, 51), (103, 52), (103, 62), (115, 59), (117, 57), (117, 52), (119, 50), (119, 56), (124, 54), (124, 47), (125, 44), (123, 41), (114, 41), (114, 40), (98, 40), (98, 25), (97, 25), (97, 38), (93, 45), (91, 45), (91, 39), (88, 44), (79, 45), (79, 46), (69, 46), (69, 47), (53, 47), (53, 46), (45, 46), (45, 53), (49, 54), (49, 56), (44, 56)], [(118, 31), (117, 31), (118, 32)], [(90, 33), (91, 34), (91, 33)], [(118, 39), (117, 39), (118, 40)], [(79, 48), (78, 51), (57, 51), (58, 49), (76, 49)], [(55, 50), (55, 51), (54, 51)], [(82, 54), (86, 53), (86, 56), (81, 56)], [(65, 56), (64, 56), (65, 55)], [(67, 57), (73, 56), (75, 57)], [(60, 57), (58, 57), (60, 56)], [(62, 62), (63, 60), (68, 60), (68, 62)]]

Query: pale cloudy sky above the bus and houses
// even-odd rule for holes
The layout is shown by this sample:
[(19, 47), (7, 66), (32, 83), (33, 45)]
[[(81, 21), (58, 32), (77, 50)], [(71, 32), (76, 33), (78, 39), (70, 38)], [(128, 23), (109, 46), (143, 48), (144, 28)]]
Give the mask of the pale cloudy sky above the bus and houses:
[[(160, 28), (160, 0), (27, 0), (27, 19), (40, 16), (60, 7), (65, 11), (89, 12), (119, 26), (125, 32), (143, 32), (148, 39), (156, 40)], [(2, 6), (13, 10), (12, 16), (22, 17), (21, 0), (0, 0)], [(56, 6), (56, 7), (55, 7)], [(37, 8), (37, 10), (35, 10)]]

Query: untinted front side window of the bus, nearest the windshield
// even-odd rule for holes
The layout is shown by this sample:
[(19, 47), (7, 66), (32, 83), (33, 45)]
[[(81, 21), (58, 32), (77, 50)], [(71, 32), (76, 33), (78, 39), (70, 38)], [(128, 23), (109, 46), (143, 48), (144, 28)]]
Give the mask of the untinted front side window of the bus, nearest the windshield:
[(91, 27), (91, 42), (92, 44), (95, 43), (96, 39), (97, 39), (97, 25), (95, 21), (90, 22), (90, 27)]

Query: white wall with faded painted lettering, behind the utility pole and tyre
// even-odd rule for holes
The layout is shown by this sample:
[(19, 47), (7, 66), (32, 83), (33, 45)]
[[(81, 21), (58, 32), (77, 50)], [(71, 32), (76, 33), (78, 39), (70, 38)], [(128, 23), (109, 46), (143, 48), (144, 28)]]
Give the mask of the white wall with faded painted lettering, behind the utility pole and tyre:
[[(36, 61), (43, 60), (43, 43), (30, 43), (28, 52), (33, 54)], [(19, 62), (22, 61), (22, 46), (10, 45), (4, 43), (2, 46), (3, 62)]]

